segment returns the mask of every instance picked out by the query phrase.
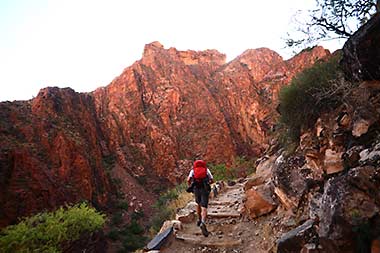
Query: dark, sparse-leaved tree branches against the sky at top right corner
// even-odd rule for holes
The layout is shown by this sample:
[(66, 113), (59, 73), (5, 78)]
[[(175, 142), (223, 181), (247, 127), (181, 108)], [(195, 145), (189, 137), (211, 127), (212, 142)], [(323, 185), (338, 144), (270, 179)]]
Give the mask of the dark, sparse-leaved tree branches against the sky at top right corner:
[[(306, 17), (302, 12), (297, 14), (294, 20), (297, 33), (286, 39), (289, 47), (350, 37), (376, 12), (376, 2), (379, 1), (316, 0), (315, 2), (315, 9), (308, 11)], [(298, 21), (300, 19), (302, 21)]]

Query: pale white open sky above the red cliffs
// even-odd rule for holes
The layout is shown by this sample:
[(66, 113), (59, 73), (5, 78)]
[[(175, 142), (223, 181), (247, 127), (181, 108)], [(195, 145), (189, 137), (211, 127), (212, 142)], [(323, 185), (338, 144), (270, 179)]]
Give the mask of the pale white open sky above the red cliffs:
[[(268, 47), (285, 59), (298, 10), (315, 0), (0, 0), (0, 101), (47, 86), (78, 92), (108, 85), (145, 44), (216, 49), (232, 60)], [(342, 42), (325, 42), (334, 51)]]

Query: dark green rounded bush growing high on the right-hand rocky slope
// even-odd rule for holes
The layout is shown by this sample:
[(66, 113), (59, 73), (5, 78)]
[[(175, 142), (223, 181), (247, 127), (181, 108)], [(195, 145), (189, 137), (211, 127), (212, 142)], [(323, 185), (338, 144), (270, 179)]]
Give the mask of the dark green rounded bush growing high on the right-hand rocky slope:
[(346, 83), (339, 70), (340, 55), (327, 62), (318, 62), (293, 78), (280, 90), (280, 123), (288, 128), (291, 139), (298, 139), (300, 130), (310, 127), (322, 111), (342, 102)]

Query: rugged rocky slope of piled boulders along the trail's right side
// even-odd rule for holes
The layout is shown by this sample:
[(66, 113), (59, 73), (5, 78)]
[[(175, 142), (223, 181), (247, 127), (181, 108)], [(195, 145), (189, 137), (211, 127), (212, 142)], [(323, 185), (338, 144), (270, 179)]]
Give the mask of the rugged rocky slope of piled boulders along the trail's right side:
[(360, 81), (351, 88), (348, 103), (322, 113), (314, 128), (304, 129), (294, 154), (276, 155), (272, 179), (282, 207), (299, 221), (316, 224), (313, 238), (300, 234), (302, 226), (285, 234), (279, 252), (377, 251), (379, 21), (377, 14), (343, 48), (346, 77)]

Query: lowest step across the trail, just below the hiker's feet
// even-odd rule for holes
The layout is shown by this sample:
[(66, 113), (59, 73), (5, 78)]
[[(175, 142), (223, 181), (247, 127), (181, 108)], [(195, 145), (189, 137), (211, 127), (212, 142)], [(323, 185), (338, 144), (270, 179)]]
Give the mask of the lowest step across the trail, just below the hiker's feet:
[(209, 238), (187, 235), (187, 234), (177, 235), (176, 239), (183, 241), (185, 243), (195, 244), (198, 246), (207, 246), (207, 247), (230, 248), (230, 247), (236, 247), (242, 244), (241, 239), (233, 239), (233, 238), (209, 239)]

